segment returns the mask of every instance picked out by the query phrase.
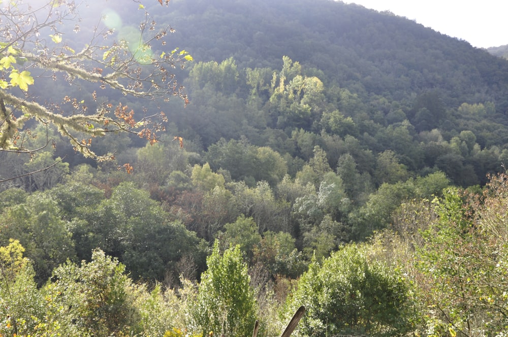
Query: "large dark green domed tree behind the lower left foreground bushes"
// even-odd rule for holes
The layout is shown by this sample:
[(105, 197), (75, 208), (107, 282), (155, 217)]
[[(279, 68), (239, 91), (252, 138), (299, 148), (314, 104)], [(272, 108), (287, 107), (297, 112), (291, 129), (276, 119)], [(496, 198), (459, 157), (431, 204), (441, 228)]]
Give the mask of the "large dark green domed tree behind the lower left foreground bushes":
[(135, 279), (178, 279), (176, 263), (192, 257), (202, 267), (203, 243), (178, 221), (171, 221), (157, 201), (131, 182), (118, 185), (109, 199), (81, 210), (73, 238), (80, 259), (100, 248), (122, 262)]

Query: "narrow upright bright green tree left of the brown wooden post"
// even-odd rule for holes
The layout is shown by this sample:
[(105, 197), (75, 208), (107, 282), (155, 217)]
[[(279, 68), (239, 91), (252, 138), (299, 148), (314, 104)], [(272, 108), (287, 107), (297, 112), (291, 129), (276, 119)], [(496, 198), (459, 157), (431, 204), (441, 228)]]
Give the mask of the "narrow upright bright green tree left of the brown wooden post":
[(240, 247), (221, 253), (215, 242), (207, 265), (194, 312), (203, 334), (213, 331), (217, 335), (249, 335), (256, 321), (257, 304)]

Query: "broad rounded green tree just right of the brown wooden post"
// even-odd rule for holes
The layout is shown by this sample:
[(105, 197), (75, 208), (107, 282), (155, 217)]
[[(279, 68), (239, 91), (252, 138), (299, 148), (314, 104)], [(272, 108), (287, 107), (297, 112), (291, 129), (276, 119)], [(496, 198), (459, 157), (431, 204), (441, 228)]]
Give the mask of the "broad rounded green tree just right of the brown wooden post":
[(313, 261), (289, 296), (287, 312), (306, 312), (300, 335), (400, 336), (406, 323), (408, 289), (400, 272), (369, 257), (366, 245), (347, 245), (322, 264)]

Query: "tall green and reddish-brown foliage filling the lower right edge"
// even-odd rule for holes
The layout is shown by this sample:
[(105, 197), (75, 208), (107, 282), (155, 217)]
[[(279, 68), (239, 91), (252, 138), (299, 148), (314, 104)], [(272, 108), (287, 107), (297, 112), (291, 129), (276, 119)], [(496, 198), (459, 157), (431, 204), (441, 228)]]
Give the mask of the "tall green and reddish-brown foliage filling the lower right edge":
[(431, 335), (506, 330), (505, 182), (504, 174), (491, 177), (483, 200), (450, 189), (433, 202), (437, 216), (426, 213), (421, 239), (411, 241), (419, 261), (413, 277), (422, 305), (428, 306)]

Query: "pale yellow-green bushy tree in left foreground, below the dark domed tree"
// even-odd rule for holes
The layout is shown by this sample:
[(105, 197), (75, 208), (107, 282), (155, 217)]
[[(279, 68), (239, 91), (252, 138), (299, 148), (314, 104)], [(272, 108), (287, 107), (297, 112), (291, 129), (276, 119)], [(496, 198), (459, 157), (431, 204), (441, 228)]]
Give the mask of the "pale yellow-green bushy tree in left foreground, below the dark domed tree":
[[(46, 326), (58, 326), (61, 335), (110, 336), (141, 332), (135, 307), (139, 290), (125, 275), (125, 266), (101, 250), (90, 262), (72, 262), (55, 269), (43, 289)], [(51, 335), (48, 331), (48, 335)]]

